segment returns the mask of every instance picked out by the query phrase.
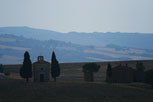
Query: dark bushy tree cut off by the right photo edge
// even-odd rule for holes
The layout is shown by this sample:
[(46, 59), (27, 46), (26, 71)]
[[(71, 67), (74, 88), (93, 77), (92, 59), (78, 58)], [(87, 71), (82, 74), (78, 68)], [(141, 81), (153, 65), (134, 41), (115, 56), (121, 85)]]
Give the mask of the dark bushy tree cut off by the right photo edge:
[(152, 85), (153, 88), (153, 70), (148, 70), (145, 72), (145, 82)]

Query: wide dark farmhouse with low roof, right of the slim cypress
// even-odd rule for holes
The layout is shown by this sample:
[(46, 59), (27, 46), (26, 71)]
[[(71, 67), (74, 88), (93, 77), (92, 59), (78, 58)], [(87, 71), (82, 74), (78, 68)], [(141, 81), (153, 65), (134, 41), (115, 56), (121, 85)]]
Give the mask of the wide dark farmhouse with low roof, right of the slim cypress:
[(112, 68), (112, 77), (110, 80), (115, 83), (131, 83), (134, 82), (134, 72), (135, 70), (127, 65), (119, 65)]

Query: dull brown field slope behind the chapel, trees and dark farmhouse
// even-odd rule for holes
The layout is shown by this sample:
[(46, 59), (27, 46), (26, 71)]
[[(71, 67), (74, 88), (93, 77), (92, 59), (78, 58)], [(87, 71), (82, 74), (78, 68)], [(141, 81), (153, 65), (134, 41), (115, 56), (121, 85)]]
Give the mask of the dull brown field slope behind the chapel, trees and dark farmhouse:
[[(110, 62), (95, 62), (96, 64), (100, 65), (100, 70), (97, 73), (94, 73), (95, 81), (104, 81), (106, 79), (106, 69), (107, 65), (111, 64), (112, 67), (118, 65), (126, 65), (128, 64), (129, 67), (136, 68), (136, 63), (142, 62), (145, 66), (145, 70), (152, 69), (153, 67), (153, 60), (131, 60), (131, 61), (110, 61)], [(86, 62), (89, 63), (89, 62)], [(58, 79), (61, 80), (83, 80), (83, 72), (82, 66), (86, 64), (83, 63), (60, 63), (61, 68), (61, 75)], [(21, 64), (8, 64), (4, 65), (4, 68), (7, 69), (9, 72), (19, 73)], [(18, 75), (19, 76), (19, 75)]]

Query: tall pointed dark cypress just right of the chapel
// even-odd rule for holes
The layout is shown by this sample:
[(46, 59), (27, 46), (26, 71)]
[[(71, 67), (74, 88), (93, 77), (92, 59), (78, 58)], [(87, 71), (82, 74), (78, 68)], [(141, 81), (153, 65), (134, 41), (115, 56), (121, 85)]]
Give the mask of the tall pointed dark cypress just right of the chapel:
[(54, 78), (54, 82), (56, 82), (56, 77), (60, 75), (60, 66), (56, 59), (54, 51), (52, 53), (52, 59), (51, 59), (51, 75)]

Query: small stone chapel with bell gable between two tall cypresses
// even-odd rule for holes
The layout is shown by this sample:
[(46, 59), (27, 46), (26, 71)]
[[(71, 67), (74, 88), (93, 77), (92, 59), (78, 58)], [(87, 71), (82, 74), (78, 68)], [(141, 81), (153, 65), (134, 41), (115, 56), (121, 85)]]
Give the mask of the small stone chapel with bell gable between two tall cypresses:
[(50, 63), (38, 56), (37, 62), (33, 63), (34, 82), (47, 82), (50, 80)]

